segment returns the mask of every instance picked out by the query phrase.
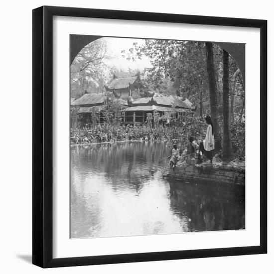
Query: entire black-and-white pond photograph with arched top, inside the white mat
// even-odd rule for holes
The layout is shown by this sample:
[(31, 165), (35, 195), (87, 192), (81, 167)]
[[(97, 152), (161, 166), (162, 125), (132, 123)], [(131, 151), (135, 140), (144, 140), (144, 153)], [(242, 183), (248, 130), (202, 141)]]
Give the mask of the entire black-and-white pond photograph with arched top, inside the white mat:
[(83, 36), (70, 238), (244, 230), (246, 45)]

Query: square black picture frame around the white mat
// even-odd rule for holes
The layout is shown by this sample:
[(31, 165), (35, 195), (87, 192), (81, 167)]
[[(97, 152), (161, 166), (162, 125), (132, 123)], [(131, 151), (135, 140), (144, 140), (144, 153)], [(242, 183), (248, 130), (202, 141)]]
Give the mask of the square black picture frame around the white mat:
[[(54, 15), (176, 22), (260, 29), (260, 245), (53, 259), (53, 94)], [(122, 10), (41, 6), (33, 9), (33, 264), (42, 268), (177, 260), (267, 253), (267, 20)]]

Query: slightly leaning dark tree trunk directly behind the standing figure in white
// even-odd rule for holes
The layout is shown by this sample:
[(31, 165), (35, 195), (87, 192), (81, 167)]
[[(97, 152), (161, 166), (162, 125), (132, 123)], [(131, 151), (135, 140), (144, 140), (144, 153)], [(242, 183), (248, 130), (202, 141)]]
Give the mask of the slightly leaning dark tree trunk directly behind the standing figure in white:
[(218, 126), (218, 100), (217, 100), (217, 85), (215, 78), (215, 68), (213, 60), (213, 48), (212, 43), (206, 42), (206, 52), (207, 52), (207, 73), (208, 73), (208, 84), (209, 84), (209, 100), (210, 100), (210, 110), (211, 118), (214, 126), (214, 137), (215, 137), (215, 149), (219, 150), (221, 148), (221, 141), (219, 136), (219, 126)]

